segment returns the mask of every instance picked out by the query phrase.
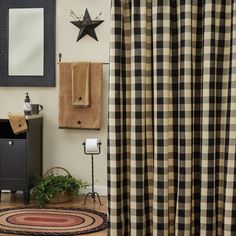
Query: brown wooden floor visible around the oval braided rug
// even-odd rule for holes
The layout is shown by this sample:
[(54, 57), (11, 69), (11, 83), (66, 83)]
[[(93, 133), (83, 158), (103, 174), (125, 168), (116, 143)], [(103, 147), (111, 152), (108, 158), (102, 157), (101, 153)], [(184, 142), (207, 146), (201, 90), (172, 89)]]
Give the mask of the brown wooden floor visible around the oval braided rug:
[[(11, 207), (21, 207), (24, 206), (23, 205), (23, 194), (21, 192), (17, 192), (15, 194), (10, 194), (10, 193), (2, 193), (2, 199), (0, 202), (0, 209), (3, 208), (11, 208)], [(94, 203), (93, 200), (91, 199), (91, 197), (88, 197), (87, 199), (87, 203), (84, 206), (84, 197), (85, 196), (78, 196), (78, 197), (74, 197), (74, 199), (68, 203), (60, 203), (60, 204), (47, 204), (47, 206), (50, 207), (79, 207), (79, 208), (89, 208), (89, 209), (94, 209), (97, 211), (101, 211), (101, 212), (105, 212), (107, 213), (107, 197), (101, 197), (101, 202), (102, 202), (102, 206), (99, 205), (98, 200), (96, 199), (96, 202)], [(30, 205), (32, 206), (33, 203), (30, 202)], [(11, 235), (11, 234), (1, 234), (0, 235)], [(85, 234), (86, 236), (105, 236), (107, 235), (107, 230), (103, 230), (103, 231), (99, 231), (97, 233), (93, 233), (93, 234)], [(16, 235), (14, 235), (16, 236)]]

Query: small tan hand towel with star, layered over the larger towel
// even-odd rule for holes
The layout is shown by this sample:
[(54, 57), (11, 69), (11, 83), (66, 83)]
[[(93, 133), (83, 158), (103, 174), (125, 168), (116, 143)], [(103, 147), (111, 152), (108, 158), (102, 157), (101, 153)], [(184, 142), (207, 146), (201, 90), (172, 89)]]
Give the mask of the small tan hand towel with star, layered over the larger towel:
[(72, 105), (88, 107), (90, 105), (89, 62), (71, 64), (72, 69)]

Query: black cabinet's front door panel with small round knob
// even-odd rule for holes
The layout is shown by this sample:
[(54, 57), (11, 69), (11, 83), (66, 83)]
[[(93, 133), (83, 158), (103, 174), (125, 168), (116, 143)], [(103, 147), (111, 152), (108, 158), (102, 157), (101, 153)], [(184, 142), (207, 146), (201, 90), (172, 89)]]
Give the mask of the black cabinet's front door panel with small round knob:
[(26, 179), (26, 140), (0, 139), (0, 178)]

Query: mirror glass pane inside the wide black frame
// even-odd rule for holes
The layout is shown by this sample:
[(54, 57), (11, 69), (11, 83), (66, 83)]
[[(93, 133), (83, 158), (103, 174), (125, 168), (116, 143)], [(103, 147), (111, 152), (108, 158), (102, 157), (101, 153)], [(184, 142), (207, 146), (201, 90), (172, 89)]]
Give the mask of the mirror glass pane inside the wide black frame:
[(9, 76), (44, 75), (44, 9), (9, 9)]

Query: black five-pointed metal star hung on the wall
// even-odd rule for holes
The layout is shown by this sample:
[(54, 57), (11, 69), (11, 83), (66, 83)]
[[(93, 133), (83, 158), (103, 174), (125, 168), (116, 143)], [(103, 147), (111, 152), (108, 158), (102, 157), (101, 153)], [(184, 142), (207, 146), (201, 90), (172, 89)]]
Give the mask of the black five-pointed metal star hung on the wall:
[(86, 34), (90, 35), (92, 38), (98, 41), (97, 35), (95, 33), (95, 28), (99, 26), (103, 20), (91, 20), (88, 9), (86, 8), (83, 20), (71, 21), (73, 25), (80, 29), (78, 38), (76, 42), (82, 39)]

